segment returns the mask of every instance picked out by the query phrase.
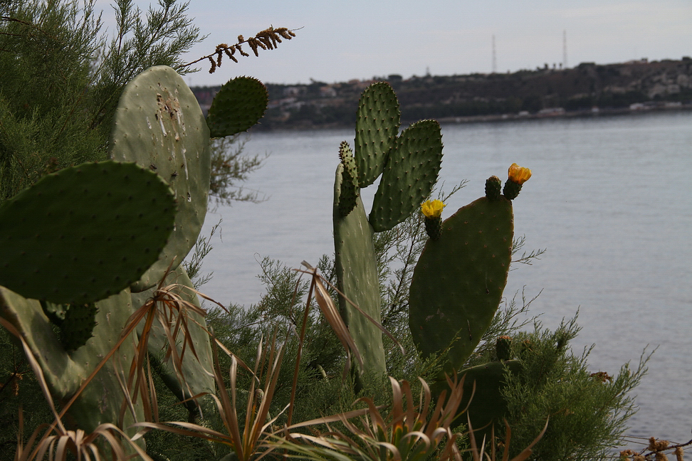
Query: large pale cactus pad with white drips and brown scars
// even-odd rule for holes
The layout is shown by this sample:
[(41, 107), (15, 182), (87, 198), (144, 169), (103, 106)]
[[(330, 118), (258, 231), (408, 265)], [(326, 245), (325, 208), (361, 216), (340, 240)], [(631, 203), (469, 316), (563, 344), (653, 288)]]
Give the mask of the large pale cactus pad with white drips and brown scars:
[(167, 181), (178, 201), (174, 231), (162, 258), (132, 291), (154, 286), (174, 260), (184, 260), (204, 224), (211, 159), (209, 128), (192, 91), (172, 68), (145, 70), (125, 86), (110, 134), (110, 156), (135, 161)]

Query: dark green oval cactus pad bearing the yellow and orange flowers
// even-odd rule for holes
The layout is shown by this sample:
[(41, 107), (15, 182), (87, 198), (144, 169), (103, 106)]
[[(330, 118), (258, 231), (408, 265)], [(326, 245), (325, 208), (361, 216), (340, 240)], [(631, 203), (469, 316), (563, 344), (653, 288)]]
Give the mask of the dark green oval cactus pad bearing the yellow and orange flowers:
[(512, 202), (478, 198), (442, 229), (414, 270), (409, 327), (419, 352), (443, 354), (444, 371), (451, 373), (481, 341), (500, 304), (512, 255)]

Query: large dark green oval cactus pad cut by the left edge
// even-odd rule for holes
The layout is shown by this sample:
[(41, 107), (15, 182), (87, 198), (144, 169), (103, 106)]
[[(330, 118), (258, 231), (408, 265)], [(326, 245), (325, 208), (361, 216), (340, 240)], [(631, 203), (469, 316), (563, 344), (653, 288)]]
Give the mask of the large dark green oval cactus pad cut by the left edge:
[(0, 206), (0, 285), (23, 297), (88, 304), (154, 264), (176, 204), (135, 164), (82, 164), (44, 176)]

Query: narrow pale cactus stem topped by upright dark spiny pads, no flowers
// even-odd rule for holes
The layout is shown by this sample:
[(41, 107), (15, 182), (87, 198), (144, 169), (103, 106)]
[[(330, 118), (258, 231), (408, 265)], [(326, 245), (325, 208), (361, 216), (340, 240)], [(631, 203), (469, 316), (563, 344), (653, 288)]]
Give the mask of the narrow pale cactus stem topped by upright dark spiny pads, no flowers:
[[(334, 189), (337, 285), (345, 297), (377, 322), (381, 318), (375, 232), (404, 221), (429, 196), (442, 159), (439, 124), (424, 120), (397, 136), (399, 102), (387, 83), (369, 86), (357, 110), (355, 152), (340, 146)], [(369, 216), (360, 188), (382, 175)], [(340, 297), (342, 317), (365, 361), (365, 372), (385, 373), (382, 332)]]

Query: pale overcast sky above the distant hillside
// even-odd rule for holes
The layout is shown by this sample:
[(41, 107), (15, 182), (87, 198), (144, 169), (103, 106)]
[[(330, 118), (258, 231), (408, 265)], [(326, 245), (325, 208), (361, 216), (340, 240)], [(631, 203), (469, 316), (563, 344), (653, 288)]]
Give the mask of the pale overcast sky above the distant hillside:
[[(146, 11), (150, 1), (135, 0)], [(112, 31), (110, 1), (97, 0)], [(265, 83), (327, 83), (400, 74), (452, 75), (535, 69), (563, 62), (621, 63), (692, 55), (692, 0), (192, 0), (189, 16), (206, 40), (194, 60), (218, 43), (263, 28), (288, 27), (296, 37), (239, 63), (206, 64), (186, 77), (219, 85), (236, 75)], [(249, 51), (249, 50), (247, 50)]]

